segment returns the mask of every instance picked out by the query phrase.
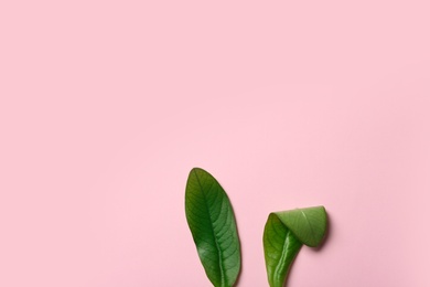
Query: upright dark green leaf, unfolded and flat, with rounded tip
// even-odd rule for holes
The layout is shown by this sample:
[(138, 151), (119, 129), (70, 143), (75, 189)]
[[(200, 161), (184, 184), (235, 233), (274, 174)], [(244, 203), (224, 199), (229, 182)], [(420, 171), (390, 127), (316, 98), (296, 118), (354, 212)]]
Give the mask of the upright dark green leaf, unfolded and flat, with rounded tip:
[(207, 171), (191, 170), (185, 213), (197, 253), (215, 287), (230, 287), (240, 270), (240, 243), (230, 201)]

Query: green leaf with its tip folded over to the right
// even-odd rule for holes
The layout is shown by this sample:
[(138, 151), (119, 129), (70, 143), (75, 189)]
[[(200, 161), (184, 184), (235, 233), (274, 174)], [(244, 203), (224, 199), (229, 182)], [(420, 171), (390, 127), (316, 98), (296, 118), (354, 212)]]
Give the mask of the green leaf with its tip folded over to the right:
[(282, 287), (301, 246), (316, 247), (324, 238), (323, 206), (270, 213), (264, 233), (266, 269), (270, 287)]

